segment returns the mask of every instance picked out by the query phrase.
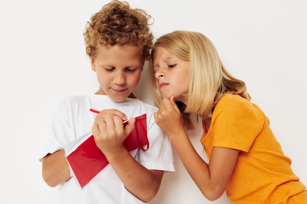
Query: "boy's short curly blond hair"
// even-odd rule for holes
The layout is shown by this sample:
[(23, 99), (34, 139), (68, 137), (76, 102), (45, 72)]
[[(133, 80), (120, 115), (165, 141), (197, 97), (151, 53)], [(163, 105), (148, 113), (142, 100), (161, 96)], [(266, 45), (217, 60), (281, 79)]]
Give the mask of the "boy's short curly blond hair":
[(131, 8), (126, 1), (110, 1), (86, 24), (83, 33), (86, 54), (95, 58), (99, 47), (104, 45), (137, 45), (143, 50), (143, 59), (149, 60), (153, 45), (151, 18), (144, 10)]

